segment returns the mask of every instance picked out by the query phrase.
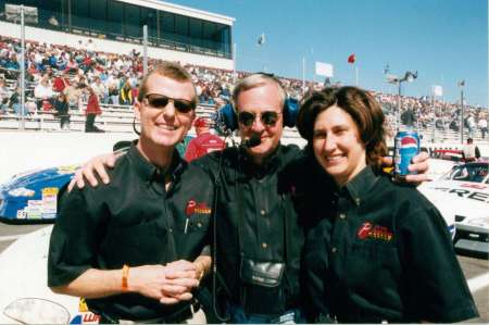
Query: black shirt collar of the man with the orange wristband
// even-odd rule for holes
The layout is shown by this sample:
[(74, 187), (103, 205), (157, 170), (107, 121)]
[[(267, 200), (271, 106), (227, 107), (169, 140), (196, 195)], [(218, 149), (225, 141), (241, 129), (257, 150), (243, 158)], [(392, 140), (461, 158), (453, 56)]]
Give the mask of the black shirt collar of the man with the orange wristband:
[(173, 179), (181, 174), (184, 165), (186, 162), (180, 158), (178, 150), (174, 150), (172, 163), (167, 170), (163, 170), (159, 166), (150, 163), (142, 154), (139, 152), (136, 143), (131, 143), (129, 151), (127, 152), (129, 161), (133, 163), (138, 175), (145, 180), (161, 180), (164, 182), (162, 175), (170, 174)]

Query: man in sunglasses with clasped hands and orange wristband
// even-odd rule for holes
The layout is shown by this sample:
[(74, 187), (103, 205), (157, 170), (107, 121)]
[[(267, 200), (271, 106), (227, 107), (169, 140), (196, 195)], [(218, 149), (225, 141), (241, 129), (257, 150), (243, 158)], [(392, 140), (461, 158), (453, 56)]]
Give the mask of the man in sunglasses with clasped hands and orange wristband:
[(135, 104), (139, 139), (111, 170), (112, 183), (60, 195), (48, 285), (85, 297), (100, 323), (181, 323), (193, 314), (191, 291), (211, 266), (212, 186), (175, 146), (196, 103), (185, 68), (158, 66)]

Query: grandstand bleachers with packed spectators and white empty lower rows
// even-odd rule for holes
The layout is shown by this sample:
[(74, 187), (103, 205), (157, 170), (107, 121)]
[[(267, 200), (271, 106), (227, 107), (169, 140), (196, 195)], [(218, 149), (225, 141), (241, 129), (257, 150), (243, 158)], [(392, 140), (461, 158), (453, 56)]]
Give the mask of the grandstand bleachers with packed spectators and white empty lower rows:
[[(111, 76), (121, 83), (121, 79), (131, 80), (137, 84), (142, 76), (142, 60), (139, 54), (116, 54), (106, 52), (90, 52), (87, 49), (75, 49), (65, 46), (45, 45), (27, 40), (27, 74), (26, 74), (26, 102), (35, 102), (34, 88), (40, 77), (49, 73), (50, 79), (59, 76), (63, 72), (68, 72), (68, 80), (73, 87), (85, 83), (90, 85), (97, 76), (105, 76), (104, 83), (109, 83)], [(15, 48), (18, 48), (18, 40), (0, 36), (0, 78), (7, 82), (8, 91), (14, 91), (18, 68), (15, 66)], [(50, 59), (55, 58), (52, 61)], [(53, 63), (55, 62), (55, 63)], [(156, 64), (158, 60), (150, 60), (150, 65)], [(18, 66), (18, 65), (17, 65)], [(231, 71), (210, 68), (205, 66), (186, 66), (195, 76), (199, 99), (201, 104), (198, 108), (199, 116), (210, 116), (222, 104), (229, 100), (233, 82), (235, 77), (240, 78), (249, 73), (238, 72), (237, 76)], [(84, 80), (79, 80), (84, 79)], [(303, 93), (312, 89), (319, 89), (323, 85), (318, 83), (306, 82), (303, 89), (302, 80), (280, 77), (284, 87), (289, 96), (301, 99)], [(109, 85), (105, 85), (106, 88)], [(136, 91), (136, 85), (131, 86)], [(398, 97), (390, 93), (372, 91), (383, 105), (389, 127), (392, 128), (392, 121), (397, 111)], [(106, 95), (101, 99), (106, 99)], [(84, 130), (85, 115), (80, 109), (86, 103), (86, 98), (80, 96), (76, 98), (77, 103), (71, 107), (71, 130)], [(121, 105), (120, 102), (108, 104), (101, 103), (103, 114), (96, 118), (96, 125), (106, 132), (133, 132), (134, 113), (131, 105)], [(425, 139), (434, 140), (453, 140), (460, 138), (460, 133), (447, 128), (436, 129), (432, 127), (434, 120), (442, 120), (443, 123), (460, 121), (456, 103), (447, 103), (435, 101), (427, 98), (401, 97), (401, 113), (408, 109), (416, 112), (419, 125), (419, 133)], [(487, 109), (466, 107), (477, 118), (487, 118)], [(8, 109), (4, 114), (0, 114), (0, 129), (15, 129), (20, 126), (20, 116), (15, 115), (12, 109)], [(59, 118), (53, 111), (33, 111), (25, 116), (25, 127), (27, 129), (58, 130)], [(475, 139), (480, 138), (480, 133), (475, 132)], [(287, 129), (285, 137), (298, 138), (294, 129)]]

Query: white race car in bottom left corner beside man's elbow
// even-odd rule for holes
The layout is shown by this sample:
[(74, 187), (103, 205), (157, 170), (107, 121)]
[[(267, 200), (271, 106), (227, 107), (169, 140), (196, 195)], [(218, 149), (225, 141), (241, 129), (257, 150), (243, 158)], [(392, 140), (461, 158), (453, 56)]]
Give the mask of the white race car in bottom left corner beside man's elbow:
[(24, 235), (0, 254), (0, 324), (98, 324), (83, 299), (47, 286), (52, 225)]

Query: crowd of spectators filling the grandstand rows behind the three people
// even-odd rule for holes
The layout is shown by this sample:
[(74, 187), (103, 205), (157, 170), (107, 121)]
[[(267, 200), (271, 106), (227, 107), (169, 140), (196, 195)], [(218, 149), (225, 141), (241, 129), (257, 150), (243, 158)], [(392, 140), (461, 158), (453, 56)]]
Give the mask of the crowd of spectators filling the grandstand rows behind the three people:
[[(21, 43), (18, 39), (0, 36), (0, 101), (1, 111), (9, 108), (21, 113), (17, 88)], [(26, 41), (26, 80), (29, 99), (26, 113), (51, 110), (60, 92), (66, 96), (71, 108), (82, 108), (88, 101), (90, 89), (103, 104), (131, 105), (137, 98), (142, 78), (142, 58), (136, 50), (127, 54), (108, 53), (90, 49)], [(149, 60), (149, 65), (159, 60)], [(187, 65), (192, 74), (201, 103), (221, 107), (230, 100), (235, 79), (249, 73)], [(321, 88), (319, 83), (280, 78), (290, 97), (298, 100), (304, 93)], [(397, 95), (372, 91), (381, 103), (391, 125), (397, 116)], [(399, 116), (403, 124), (422, 128), (436, 127), (457, 132), (461, 127), (457, 103), (431, 100), (428, 97), (401, 97)], [(464, 126), (474, 134), (487, 133), (487, 109), (466, 107)], [(486, 126), (485, 126), (486, 125)]]

